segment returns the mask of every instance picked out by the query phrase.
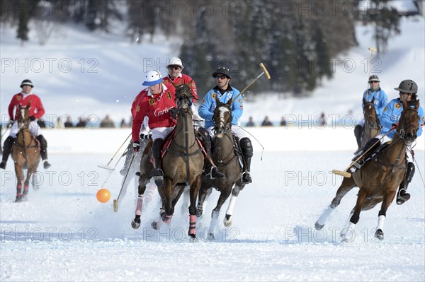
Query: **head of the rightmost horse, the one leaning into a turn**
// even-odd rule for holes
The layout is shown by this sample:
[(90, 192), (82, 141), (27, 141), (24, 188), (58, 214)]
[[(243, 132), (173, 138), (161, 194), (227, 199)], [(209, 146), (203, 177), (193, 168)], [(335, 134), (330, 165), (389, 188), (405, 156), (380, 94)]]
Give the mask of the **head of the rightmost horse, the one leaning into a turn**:
[(407, 146), (412, 145), (416, 139), (416, 133), (419, 125), (419, 100), (416, 101), (414, 107), (409, 107), (407, 102), (403, 101), (402, 116), (399, 119), (397, 126), (397, 134), (400, 138), (404, 139), (404, 144)]

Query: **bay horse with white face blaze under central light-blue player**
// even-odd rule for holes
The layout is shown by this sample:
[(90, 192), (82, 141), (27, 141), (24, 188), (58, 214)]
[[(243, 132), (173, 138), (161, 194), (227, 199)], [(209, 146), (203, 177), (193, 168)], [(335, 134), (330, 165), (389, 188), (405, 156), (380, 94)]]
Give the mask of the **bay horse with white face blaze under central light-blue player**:
[(217, 168), (225, 175), (225, 177), (222, 179), (210, 179), (208, 176), (203, 176), (196, 213), (196, 216), (202, 216), (203, 207), (205, 206), (205, 198), (211, 194), (212, 187), (220, 191), (217, 206), (215, 206), (211, 213), (211, 223), (208, 230), (209, 240), (215, 239), (214, 231), (217, 227), (217, 218), (220, 214), (222, 205), (229, 198), (230, 194), (232, 194), (232, 197), (230, 198), (223, 223), (226, 227), (232, 225), (234, 204), (237, 196), (239, 196), (239, 192), (245, 187), (245, 185), (242, 184), (243, 170), (238, 157), (241, 153), (234, 148), (235, 136), (232, 133), (233, 100), (230, 99), (227, 103), (222, 103), (215, 98), (215, 102), (217, 103), (217, 107), (215, 107), (214, 115), (212, 117), (215, 130), (212, 161), (215, 165), (217, 165)]

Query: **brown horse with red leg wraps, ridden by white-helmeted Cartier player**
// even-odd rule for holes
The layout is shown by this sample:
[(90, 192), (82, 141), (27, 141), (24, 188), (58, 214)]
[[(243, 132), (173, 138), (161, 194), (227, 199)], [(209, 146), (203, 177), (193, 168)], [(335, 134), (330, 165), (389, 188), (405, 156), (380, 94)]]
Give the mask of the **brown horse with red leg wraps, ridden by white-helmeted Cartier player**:
[(159, 223), (169, 223), (174, 213), (174, 206), (183, 189), (190, 187), (189, 206), (189, 231), (192, 240), (196, 239), (196, 197), (200, 189), (201, 176), (203, 173), (204, 156), (200, 143), (196, 139), (193, 128), (193, 114), (191, 100), (193, 94), (191, 88), (186, 85), (176, 86), (177, 124), (171, 134), (171, 144), (166, 148), (166, 154), (162, 158), (162, 170), (164, 183), (158, 187), (159, 196), (162, 199), (160, 221), (152, 222), (153, 228), (159, 228)]

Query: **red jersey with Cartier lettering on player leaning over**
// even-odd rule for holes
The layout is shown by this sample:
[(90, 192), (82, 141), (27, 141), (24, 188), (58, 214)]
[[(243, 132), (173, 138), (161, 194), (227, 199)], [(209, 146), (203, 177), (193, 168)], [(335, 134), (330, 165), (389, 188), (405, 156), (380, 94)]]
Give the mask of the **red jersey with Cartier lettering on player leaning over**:
[(169, 112), (172, 107), (177, 107), (175, 93), (176, 88), (174, 86), (163, 85), (160, 94), (152, 95), (148, 93), (148, 89), (145, 89), (137, 95), (137, 97), (140, 96), (139, 100), (135, 100), (137, 104), (133, 102), (135, 114), (132, 123), (132, 140), (134, 142), (139, 141), (140, 127), (142, 127), (145, 116), (149, 118), (150, 129), (176, 126), (176, 121), (171, 118)]

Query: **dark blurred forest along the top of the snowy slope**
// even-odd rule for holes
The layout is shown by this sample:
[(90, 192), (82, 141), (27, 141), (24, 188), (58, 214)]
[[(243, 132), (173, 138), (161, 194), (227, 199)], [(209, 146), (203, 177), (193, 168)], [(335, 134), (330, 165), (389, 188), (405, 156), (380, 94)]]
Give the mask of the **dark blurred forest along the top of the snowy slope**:
[[(251, 90), (308, 95), (322, 78), (331, 78), (339, 54), (358, 44), (357, 23), (373, 24), (378, 52), (399, 33), (399, 15), (387, 0), (1, 0), (0, 23), (16, 27), (22, 44), (34, 28), (40, 45), (52, 26), (74, 22), (87, 32), (110, 32), (113, 23), (128, 26), (125, 36), (143, 44), (157, 35), (183, 39), (179, 57), (195, 81), (227, 66), (241, 85), (267, 66), (272, 79)], [(207, 92), (198, 86), (200, 93)], [(257, 89), (256, 89), (257, 87)]]

